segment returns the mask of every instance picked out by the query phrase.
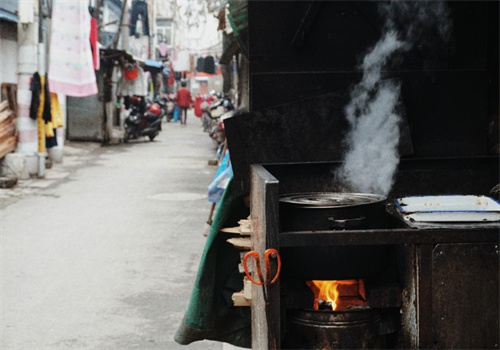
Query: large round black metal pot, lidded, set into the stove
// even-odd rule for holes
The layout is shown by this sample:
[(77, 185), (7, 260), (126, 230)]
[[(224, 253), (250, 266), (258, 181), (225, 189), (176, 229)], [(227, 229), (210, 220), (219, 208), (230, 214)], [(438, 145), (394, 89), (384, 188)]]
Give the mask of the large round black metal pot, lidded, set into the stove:
[[(387, 227), (386, 197), (376, 194), (314, 192), (280, 198), (282, 232)], [(348, 245), (282, 249), (285, 275), (305, 279), (366, 278), (388, 265), (386, 246)]]

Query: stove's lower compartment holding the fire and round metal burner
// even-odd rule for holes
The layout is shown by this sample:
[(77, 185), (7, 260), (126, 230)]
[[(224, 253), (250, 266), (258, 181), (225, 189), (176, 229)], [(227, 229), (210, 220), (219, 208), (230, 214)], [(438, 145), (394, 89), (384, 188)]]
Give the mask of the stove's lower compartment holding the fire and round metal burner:
[(284, 349), (395, 349), (402, 291), (389, 275), (282, 280)]

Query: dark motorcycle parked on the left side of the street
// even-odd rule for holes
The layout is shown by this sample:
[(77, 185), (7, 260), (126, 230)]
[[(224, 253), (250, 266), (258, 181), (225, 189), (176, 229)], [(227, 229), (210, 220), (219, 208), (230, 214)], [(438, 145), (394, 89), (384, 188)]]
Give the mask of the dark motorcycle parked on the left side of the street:
[[(161, 119), (166, 113), (159, 102), (148, 103), (146, 112), (142, 112), (141, 98), (137, 103), (132, 103), (129, 115), (125, 119), (125, 136), (123, 142), (127, 143), (130, 139), (137, 139), (140, 136), (148, 136), (151, 141), (161, 131)], [(135, 101), (134, 101), (135, 102)]]

